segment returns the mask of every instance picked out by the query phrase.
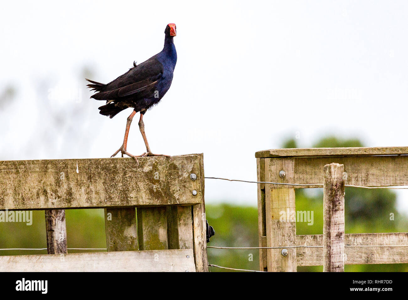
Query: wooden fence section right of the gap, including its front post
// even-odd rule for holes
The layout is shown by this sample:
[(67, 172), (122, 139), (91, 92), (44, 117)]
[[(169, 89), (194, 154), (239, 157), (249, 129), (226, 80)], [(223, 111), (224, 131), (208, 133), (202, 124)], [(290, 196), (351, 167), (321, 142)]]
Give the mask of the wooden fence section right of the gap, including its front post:
[[(408, 233), (344, 233), (344, 185), (408, 186), (408, 147), (273, 149), (255, 156), (257, 181), (281, 183), (258, 183), (259, 247), (276, 247), (259, 250), (261, 271), (408, 263)], [(296, 211), (295, 189), (322, 183), (324, 235), (297, 236), (296, 222), (281, 222), (280, 213)]]

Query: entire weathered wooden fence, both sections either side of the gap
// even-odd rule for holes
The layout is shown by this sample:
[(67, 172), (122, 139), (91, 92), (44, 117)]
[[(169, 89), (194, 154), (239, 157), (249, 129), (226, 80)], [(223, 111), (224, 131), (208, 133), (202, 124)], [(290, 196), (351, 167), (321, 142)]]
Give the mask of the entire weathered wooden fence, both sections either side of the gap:
[[(344, 233), (346, 184), (408, 186), (408, 147), (278, 149), (255, 156), (257, 181), (277, 183), (258, 183), (261, 271), (408, 263), (408, 233)], [(0, 162), (0, 210), (45, 210), (49, 253), (0, 256), (0, 271), (208, 271), (202, 154), (139, 162)], [(310, 187), (324, 188), (324, 234), (297, 236), (295, 220), (282, 222), (280, 212), (296, 211), (295, 189)], [(105, 209), (107, 252), (67, 254), (64, 209), (82, 208)]]

